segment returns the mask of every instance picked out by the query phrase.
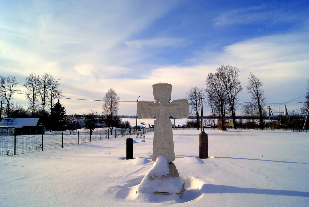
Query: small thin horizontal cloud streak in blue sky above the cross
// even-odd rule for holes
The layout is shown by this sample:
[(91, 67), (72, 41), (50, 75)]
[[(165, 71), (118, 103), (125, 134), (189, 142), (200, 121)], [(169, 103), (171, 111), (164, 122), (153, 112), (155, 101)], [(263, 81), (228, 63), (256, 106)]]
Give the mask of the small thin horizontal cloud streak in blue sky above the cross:
[(181, 47), (185, 40), (182, 38), (155, 38), (150, 40), (125, 41), (125, 45), (132, 48), (143, 47)]

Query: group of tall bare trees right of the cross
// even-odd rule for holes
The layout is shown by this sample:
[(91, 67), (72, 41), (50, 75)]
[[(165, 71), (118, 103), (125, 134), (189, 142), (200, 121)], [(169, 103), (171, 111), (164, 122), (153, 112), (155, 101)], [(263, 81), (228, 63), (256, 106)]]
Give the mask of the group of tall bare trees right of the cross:
[[(228, 65), (221, 65), (216, 68), (216, 72), (208, 73), (205, 79), (206, 88), (199, 88), (197, 86), (191, 87), (186, 93), (186, 98), (189, 101), (190, 114), (197, 117), (195, 122), (188, 122), (187, 125), (194, 126), (197, 129), (201, 124), (199, 120), (201, 109), (201, 98), (210, 107), (211, 115), (209, 120), (212, 119), (213, 127), (216, 126), (215, 117), (218, 116), (219, 120), (217, 127), (221, 130), (226, 130), (227, 120), (226, 115), (232, 117), (234, 129), (237, 127), (245, 128), (265, 128), (265, 116), (268, 111), (266, 110), (266, 94), (263, 89), (263, 83), (252, 72), (248, 77), (246, 86), (247, 93), (250, 94), (251, 101), (249, 103), (241, 104), (239, 93), (243, 90), (242, 85), (238, 79), (239, 68)], [(307, 83), (306, 102), (304, 103), (301, 112), (307, 113), (309, 108), (309, 79)], [(235, 110), (241, 106), (242, 114), (247, 117), (246, 122), (237, 122), (235, 119)], [(255, 122), (256, 117), (258, 123)], [(293, 120), (294, 122), (294, 120)]]

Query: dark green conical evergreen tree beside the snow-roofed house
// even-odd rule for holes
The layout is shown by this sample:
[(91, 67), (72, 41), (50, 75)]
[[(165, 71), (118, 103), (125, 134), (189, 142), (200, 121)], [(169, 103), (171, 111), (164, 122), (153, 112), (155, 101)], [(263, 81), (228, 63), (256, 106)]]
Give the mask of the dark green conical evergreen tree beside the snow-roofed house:
[(53, 105), (51, 114), (51, 128), (54, 130), (61, 130), (66, 123), (66, 110), (64, 106), (58, 101)]

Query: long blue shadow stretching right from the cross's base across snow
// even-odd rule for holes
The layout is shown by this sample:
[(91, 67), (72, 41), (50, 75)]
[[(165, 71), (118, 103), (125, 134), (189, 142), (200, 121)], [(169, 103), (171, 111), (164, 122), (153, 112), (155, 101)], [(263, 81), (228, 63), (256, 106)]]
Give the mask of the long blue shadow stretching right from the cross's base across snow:
[(197, 199), (203, 193), (253, 193), (277, 196), (300, 196), (309, 197), (309, 192), (303, 191), (288, 191), (288, 190), (273, 190), (262, 188), (239, 188), (228, 185), (203, 184), (201, 189), (186, 189), (182, 199), (177, 199), (176, 202), (184, 203)]

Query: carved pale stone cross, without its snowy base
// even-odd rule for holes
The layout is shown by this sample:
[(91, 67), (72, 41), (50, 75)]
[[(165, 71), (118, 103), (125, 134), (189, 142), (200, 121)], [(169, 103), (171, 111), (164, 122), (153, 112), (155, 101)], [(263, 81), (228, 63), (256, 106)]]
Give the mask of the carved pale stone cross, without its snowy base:
[(188, 118), (188, 100), (171, 101), (172, 85), (157, 83), (152, 85), (155, 103), (153, 101), (138, 101), (137, 114), (139, 119), (156, 117), (154, 128), (152, 161), (159, 155), (165, 156), (167, 162), (175, 160), (173, 131), (170, 116)]

